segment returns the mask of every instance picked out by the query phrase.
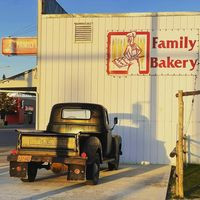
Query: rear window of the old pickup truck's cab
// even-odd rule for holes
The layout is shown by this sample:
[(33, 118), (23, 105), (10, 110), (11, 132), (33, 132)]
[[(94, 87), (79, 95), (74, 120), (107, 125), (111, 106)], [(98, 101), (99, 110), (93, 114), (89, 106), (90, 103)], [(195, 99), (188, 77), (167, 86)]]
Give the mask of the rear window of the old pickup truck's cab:
[(90, 119), (91, 111), (87, 109), (63, 109), (63, 119)]

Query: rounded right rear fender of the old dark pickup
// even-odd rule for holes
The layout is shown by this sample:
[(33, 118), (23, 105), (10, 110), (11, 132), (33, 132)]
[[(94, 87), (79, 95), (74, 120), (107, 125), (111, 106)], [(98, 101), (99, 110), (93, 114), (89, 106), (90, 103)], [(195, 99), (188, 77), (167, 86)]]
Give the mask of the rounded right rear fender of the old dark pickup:
[(92, 164), (95, 159), (96, 153), (99, 153), (100, 163), (103, 161), (102, 145), (97, 137), (89, 137), (83, 147), (83, 152), (87, 154), (87, 164)]

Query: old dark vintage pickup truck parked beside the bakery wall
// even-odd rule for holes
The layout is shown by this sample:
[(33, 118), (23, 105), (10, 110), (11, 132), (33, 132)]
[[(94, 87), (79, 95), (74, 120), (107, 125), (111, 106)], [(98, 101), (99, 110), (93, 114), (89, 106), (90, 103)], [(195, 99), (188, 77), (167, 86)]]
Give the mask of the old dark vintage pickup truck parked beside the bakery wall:
[(113, 135), (107, 110), (98, 104), (61, 103), (53, 106), (46, 131), (18, 130), (17, 147), (7, 157), (10, 176), (33, 182), (37, 170), (66, 172), (68, 180), (97, 184), (100, 164), (117, 170), (122, 140)]

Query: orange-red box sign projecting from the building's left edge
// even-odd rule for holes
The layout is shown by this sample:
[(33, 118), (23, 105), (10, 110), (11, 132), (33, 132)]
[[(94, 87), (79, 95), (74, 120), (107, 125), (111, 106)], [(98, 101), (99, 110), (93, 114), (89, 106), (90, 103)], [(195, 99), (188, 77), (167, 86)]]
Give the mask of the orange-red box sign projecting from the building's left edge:
[(3, 38), (3, 55), (37, 55), (37, 38)]

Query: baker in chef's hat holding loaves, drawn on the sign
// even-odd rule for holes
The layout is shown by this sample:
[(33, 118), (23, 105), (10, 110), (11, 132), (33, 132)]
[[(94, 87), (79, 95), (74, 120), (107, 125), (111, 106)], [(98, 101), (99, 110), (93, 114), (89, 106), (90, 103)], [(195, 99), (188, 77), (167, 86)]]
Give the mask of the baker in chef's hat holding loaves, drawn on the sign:
[(128, 33), (128, 45), (123, 53), (122, 57), (115, 58), (113, 60), (113, 63), (121, 68), (121, 67), (128, 67), (127, 71), (129, 71), (129, 68), (133, 66), (140, 67), (140, 54), (142, 53), (142, 49), (135, 43), (135, 37), (136, 32)]

